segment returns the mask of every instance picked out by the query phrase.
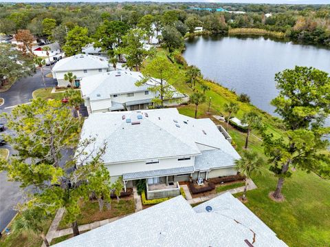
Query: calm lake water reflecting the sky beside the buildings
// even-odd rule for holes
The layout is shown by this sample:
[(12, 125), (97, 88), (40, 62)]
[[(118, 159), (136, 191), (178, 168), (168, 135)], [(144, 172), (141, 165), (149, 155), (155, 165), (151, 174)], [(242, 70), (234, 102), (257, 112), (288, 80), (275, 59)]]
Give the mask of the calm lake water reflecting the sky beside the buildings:
[(264, 37), (198, 36), (186, 41), (184, 58), (206, 78), (248, 94), (254, 105), (270, 114), (274, 114), (270, 100), (278, 94), (277, 72), (299, 65), (330, 73), (330, 50)]

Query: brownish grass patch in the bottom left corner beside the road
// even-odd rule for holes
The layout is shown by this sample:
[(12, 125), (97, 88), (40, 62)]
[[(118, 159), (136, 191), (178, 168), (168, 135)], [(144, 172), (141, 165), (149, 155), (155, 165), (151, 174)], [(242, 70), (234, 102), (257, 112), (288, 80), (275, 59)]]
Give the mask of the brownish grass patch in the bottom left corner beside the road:
[[(17, 216), (19, 217), (19, 215)], [(43, 224), (43, 231), (46, 234), (52, 224), (53, 217), (50, 217)], [(9, 226), (11, 229), (11, 227)], [(3, 235), (0, 239), (1, 247), (40, 247), (43, 244), (43, 239), (33, 233), (28, 233), (24, 230), (13, 231), (10, 235)]]

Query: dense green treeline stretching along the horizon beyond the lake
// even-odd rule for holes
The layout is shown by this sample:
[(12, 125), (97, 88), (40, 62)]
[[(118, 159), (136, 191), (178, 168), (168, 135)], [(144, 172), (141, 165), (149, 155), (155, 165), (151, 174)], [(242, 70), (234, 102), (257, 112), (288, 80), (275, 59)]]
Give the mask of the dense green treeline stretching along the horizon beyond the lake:
[[(216, 12), (215, 8), (243, 11), (245, 14)], [(146, 32), (150, 32), (146, 24), (152, 21), (159, 30), (170, 30), (172, 37), (179, 36), (173, 34), (174, 31), (181, 36), (186, 32), (192, 33), (196, 26), (202, 26), (203, 30), (210, 33), (227, 33), (230, 28), (259, 28), (283, 32), (295, 41), (330, 46), (329, 5), (17, 3), (1, 4), (0, 10), (0, 33), (15, 34), (18, 30), (28, 29), (35, 36), (56, 40), (61, 45), (65, 44), (67, 32), (76, 25), (87, 28), (88, 36), (94, 36), (99, 26), (106, 21), (122, 21), (129, 28), (142, 28)]]

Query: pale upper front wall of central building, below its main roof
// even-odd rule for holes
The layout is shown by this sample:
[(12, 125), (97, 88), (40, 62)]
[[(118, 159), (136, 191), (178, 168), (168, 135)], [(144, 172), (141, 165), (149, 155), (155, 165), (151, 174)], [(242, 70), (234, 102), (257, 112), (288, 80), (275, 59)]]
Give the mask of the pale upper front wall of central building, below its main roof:
[(134, 173), (139, 171), (153, 171), (159, 169), (170, 169), (177, 167), (190, 167), (194, 165), (194, 159), (177, 160), (177, 158), (159, 159), (157, 164), (146, 164), (145, 161), (127, 162), (117, 164), (106, 164), (111, 176), (120, 176), (123, 173)]

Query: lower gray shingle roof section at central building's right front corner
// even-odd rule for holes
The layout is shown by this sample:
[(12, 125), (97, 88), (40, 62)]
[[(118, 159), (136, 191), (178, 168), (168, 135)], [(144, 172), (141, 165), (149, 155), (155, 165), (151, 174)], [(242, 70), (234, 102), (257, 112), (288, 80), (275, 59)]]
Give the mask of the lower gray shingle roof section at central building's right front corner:
[(195, 158), (195, 169), (197, 171), (209, 171), (214, 168), (233, 167), (235, 158), (221, 149), (202, 151)]

